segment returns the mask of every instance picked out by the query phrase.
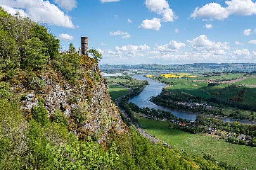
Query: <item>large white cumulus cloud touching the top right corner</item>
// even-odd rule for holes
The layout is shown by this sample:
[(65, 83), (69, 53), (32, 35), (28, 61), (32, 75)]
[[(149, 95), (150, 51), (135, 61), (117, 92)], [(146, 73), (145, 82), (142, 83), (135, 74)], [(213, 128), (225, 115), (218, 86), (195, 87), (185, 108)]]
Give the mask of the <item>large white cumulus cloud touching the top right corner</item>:
[(253, 15), (256, 14), (256, 2), (251, 0), (226, 0), (227, 7), (221, 7), (218, 3), (209, 3), (201, 8), (195, 8), (194, 12), (190, 14), (190, 18), (209, 17), (223, 20), (229, 15)]

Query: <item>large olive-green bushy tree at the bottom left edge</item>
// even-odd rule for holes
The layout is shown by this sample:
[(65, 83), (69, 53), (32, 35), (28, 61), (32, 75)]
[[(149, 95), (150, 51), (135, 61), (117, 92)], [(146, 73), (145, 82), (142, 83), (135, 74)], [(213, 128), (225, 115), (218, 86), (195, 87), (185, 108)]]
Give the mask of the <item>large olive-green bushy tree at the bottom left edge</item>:
[(0, 169), (21, 169), (26, 155), (28, 124), (17, 109), (7, 100), (0, 100)]

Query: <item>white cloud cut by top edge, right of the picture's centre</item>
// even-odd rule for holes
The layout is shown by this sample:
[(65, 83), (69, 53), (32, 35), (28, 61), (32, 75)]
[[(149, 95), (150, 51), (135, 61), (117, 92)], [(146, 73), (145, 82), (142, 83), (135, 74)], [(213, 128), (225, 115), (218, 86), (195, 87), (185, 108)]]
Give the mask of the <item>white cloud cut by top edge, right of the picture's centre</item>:
[(173, 22), (177, 18), (166, 0), (146, 0), (145, 5), (151, 12), (162, 15), (163, 22)]

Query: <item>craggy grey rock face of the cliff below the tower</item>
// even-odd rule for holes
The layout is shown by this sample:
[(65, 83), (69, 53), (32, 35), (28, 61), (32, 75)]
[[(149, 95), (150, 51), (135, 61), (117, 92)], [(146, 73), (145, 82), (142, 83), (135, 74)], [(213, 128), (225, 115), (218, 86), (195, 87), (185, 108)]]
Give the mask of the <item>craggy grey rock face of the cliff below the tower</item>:
[[(109, 131), (123, 133), (123, 122), (97, 63), (84, 70), (79, 73), (76, 83), (70, 83), (58, 71), (45, 71), (39, 76), (45, 82), (45, 87), (40, 92), (31, 90), (27, 93), (21, 108), (31, 110), (42, 98), (48, 116), (54, 114), (55, 109), (62, 110), (69, 117), (69, 131), (81, 138), (94, 136), (98, 142), (102, 142)], [(83, 122), (79, 122), (79, 116)]]

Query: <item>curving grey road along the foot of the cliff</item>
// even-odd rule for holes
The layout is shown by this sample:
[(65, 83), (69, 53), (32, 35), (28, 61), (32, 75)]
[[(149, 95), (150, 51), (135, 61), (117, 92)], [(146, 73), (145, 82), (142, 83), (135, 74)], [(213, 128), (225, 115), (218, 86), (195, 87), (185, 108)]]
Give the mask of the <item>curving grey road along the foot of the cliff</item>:
[[(116, 84), (116, 85), (119, 85), (119, 84)], [(119, 85), (119, 86), (125, 87), (125, 86), (123, 86), (123, 85)], [(127, 88), (127, 89), (129, 90), (129, 93), (127, 93), (127, 94), (125, 94), (125, 95), (123, 95), (123, 96), (121, 96), (121, 97), (118, 97), (118, 98), (115, 100), (116, 105), (119, 107), (120, 111), (121, 111), (122, 114), (128, 119), (128, 121), (129, 121), (131, 124), (133, 124), (133, 125), (135, 126), (135, 128), (138, 129), (138, 130), (140, 131), (140, 133), (141, 133), (143, 136), (145, 136), (146, 138), (152, 140), (152, 141), (155, 142), (155, 143), (161, 142), (161, 141), (157, 140), (156, 138), (154, 138), (153, 136), (151, 136), (150, 134), (146, 133), (143, 129), (141, 129), (140, 126), (138, 126), (135, 122), (133, 122), (133, 121), (131, 120), (131, 118), (128, 116), (128, 114), (126, 114), (125, 110), (119, 106), (119, 101), (120, 101), (120, 99), (121, 99), (122, 97), (125, 97), (126, 95), (130, 94), (131, 92), (133, 92), (133, 90), (132, 90), (131, 88), (129, 88), (129, 87), (125, 87), (125, 88)], [(163, 143), (163, 142), (161, 142), (161, 143)], [(169, 148), (171, 148), (171, 146), (169, 146), (169, 145), (167, 145), (167, 146), (168, 146)]]

